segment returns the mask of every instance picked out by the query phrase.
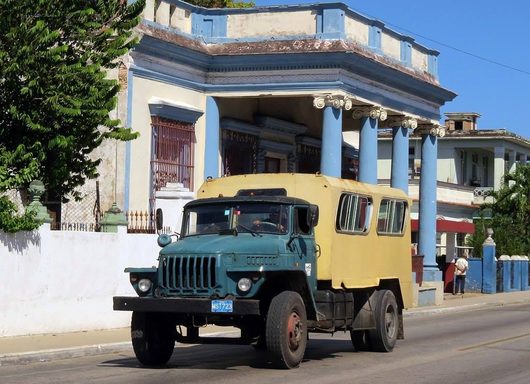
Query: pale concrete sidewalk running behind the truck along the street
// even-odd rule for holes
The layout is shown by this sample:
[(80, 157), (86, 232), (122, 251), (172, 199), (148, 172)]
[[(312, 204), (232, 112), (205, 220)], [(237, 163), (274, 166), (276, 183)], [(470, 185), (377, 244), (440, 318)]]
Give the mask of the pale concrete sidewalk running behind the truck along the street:
[[(445, 294), (442, 305), (408, 309), (405, 311), (404, 317), (428, 316), (449, 311), (466, 311), (486, 306), (498, 307), (529, 302), (530, 291), (493, 295), (466, 293), (463, 296), (453, 296)], [(213, 336), (235, 332), (237, 329), (232, 327), (208, 326), (201, 329), (200, 334)], [(129, 328), (0, 337), (0, 367), (131, 350)]]

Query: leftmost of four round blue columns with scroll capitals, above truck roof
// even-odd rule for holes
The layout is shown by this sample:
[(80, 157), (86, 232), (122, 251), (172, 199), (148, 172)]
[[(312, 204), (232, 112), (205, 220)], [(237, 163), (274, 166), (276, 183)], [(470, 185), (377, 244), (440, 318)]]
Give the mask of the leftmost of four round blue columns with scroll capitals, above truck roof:
[(340, 177), (342, 170), (342, 109), (326, 106), (323, 109), (322, 153), (320, 172)]

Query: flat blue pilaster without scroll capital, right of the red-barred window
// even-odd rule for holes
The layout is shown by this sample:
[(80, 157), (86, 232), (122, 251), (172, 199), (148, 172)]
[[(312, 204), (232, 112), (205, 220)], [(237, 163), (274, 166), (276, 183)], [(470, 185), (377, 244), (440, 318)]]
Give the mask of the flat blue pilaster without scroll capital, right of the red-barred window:
[(219, 106), (215, 98), (206, 97), (206, 132), (204, 146), (204, 179), (219, 177)]

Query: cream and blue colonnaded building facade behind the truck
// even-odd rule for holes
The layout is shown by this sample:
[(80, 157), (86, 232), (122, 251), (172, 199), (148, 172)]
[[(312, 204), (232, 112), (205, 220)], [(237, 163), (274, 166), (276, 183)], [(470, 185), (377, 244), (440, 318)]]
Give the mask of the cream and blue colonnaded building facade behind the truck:
[(152, 210), (190, 198), (208, 177), (242, 173), (376, 184), (381, 127), (392, 130), (391, 184), (407, 191), (414, 130), (425, 172), (419, 248), (437, 278), (440, 107), (456, 96), (438, 81), (438, 52), (341, 3), (205, 9), (148, 0), (137, 32), (118, 71), (117, 116), (140, 137), (103, 149), (112, 159), (101, 170), (103, 209), (115, 201)]

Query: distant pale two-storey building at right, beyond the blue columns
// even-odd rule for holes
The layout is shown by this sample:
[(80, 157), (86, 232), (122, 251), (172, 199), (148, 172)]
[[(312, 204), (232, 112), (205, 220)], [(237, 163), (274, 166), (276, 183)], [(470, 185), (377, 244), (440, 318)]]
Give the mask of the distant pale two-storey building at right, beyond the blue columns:
[[(438, 140), (437, 246), (449, 262), (473, 233), (473, 218), (487, 191), (498, 190), (501, 180), (517, 164), (530, 158), (530, 140), (505, 129), (478, 129), (474, 112), (446, 113), (445, 136)], [(380, 182), (390, 179), (391, 135), (379, 135)], [(413, 229), (417, 227), (421, 137), (412, 134), (409, 145), (409, 194), (416, 202)], [(416, 242), (417, 239), (413, 239)]]

